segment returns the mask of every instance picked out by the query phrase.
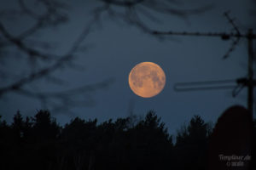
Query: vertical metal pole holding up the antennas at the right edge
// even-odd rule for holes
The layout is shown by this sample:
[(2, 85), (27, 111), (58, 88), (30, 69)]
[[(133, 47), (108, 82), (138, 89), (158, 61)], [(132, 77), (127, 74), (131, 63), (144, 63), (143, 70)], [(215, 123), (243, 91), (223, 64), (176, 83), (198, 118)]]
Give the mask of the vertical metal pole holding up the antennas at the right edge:
[(253, 29), (248, 30), (248, 89), (247, 89), (247, 107), (253, 118)]

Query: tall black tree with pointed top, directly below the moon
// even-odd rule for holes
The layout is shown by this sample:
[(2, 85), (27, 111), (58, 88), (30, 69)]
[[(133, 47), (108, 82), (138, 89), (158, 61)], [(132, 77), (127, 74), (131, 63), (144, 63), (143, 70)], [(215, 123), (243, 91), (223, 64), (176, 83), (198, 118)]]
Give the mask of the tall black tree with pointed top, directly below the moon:
[(129, 138), (129, 165), (131, 168), (155, 169), (166, 166), (172, 149), (172, 136), (154, 111), (148, 111), (145, 118), (131, 128)]

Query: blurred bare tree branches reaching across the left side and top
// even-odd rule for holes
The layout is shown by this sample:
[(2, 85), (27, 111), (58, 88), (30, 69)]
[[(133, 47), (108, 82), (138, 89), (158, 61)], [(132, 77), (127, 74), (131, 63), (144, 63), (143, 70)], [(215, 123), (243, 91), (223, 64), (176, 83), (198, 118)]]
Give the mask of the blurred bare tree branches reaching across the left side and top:
[[(110, 19), (121, 20), (131, 26), (137, 26), (143, 32), (154, 35), (152, 28), (148, 26), (145, 19), (160, 23), (159, 14), (168, 14), (185, 19), (189, 14), (201, 14), (212, 8), (211, 5), (208, 5), (195, 9), (180, 9), (174, 7), (179, 3), (176, 0), (101, 0), (101, 5), (93, 9), (89, 22), (86, 23), (84, 30), (71, 47), (67, 49), (67, 52), (65, 54), (55, 54), (52, 52), (46, 53), (45, 49), (52, 48), (50, 42), (41, 41), (36, 38), (36, 35), (47, 28), (67, 23), (68, 5), (57, 0), (34, 0), (33, 3), (18, 0), (17, 3), (20, 7), (19, 10), (0, 11), (0, 17), (15, 15), (19, 18), (22, 15), (30, 20), (32, 19), (33, 25), (27, 26), (25, 31), (19, 32), (18, 36), (15, 36), (1, 21), (0, 52), (2, 53), (3, 48), (10, 48), (15, 49), (10, 50), (11, 53), (18, 51), (25, 54), (22, 59), (26, 59), (32, 69), (28, 74), (19, 78), (12, 78), (11, 83), (0, 86), (0, 99), (4, 94), (14, 92), (32, 99), (38, 99), (44, 107), (68, 111), (72, 106), (95, 105), (92, 93), (107, 88), (113, 83), (113, 79), (57, 92), (39, 92), (39, 90), (32, 90), (32, 85), (43, 78), (57, 85), (64, 84), (65, 82), (61, 78), (55, 77), (55, 71), (67, 67), (79, 68), (76, 65), (73, 66), (73, 61), (80, 50), (87, 50), (87, 46), (84, 48), (82, 43), (92, 31), (92, 27), (102, 21), (104, 14), (107, 14)], [(7, 55), (1, 53), (0, 59), (6, 59)], [(44, 66), (40, 65), (42, 63)], [(0, 70), (0, 79), (7, 79), (10, 76), (10, 72)]]

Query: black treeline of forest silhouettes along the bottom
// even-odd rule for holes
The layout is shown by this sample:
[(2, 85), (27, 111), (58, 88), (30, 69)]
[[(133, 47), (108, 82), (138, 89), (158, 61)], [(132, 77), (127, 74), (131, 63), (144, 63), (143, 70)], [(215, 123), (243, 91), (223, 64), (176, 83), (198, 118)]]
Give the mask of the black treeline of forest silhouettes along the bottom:
[(206, 169), (212, 127), (201, 116), (177, 131), (176, 143), (164, 122), (148, 111), (143, 118), (83, 120), (61, 127), (49, 111), (9, 125), (0, 118), (0, 169)]

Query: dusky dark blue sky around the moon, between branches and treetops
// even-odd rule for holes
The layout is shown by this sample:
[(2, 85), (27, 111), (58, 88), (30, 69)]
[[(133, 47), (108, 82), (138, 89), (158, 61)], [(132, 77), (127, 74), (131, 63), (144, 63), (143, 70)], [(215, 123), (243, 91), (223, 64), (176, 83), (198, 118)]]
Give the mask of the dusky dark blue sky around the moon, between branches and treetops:
[[(13, 1), (15, 2), (15, 1)], [(224, 11), (236, 17), (236, 23), (242, 32), (253, 26), (253, 16), (249, 14), (253, 3), (245, 1), (183, 1), (178, 8), (194, 8), (213, 4), (214, 8), (204, 14), (189, 16), (186, 20), (176, 16), (157, 15), (162, 23), (148, 22), (149, 26), (163, 31), (232, 31), (232, 26), (224, 18)], [(3, 4), (3, 5), (2, 5)], [(15, 6), (11, 1), (1, 1), (1, 8)], [(56, 54), (65, 53), (84, 26), (88, 23), (89, 11), (97, 4), (90, 1), (76, 0), (69, 9), (70, 21), (65, 26), (42, 31), (38, 37), (49, 42), (57, 42)], [(9, 31), (17, 33), (25, 29), (31, 20), (22, 22), (4, 20)], [(129, 26), (103, 18), (102, 25), (93, 26), (93, 31), (83, 42), (89, 50), (79, 54), (77, 62), (84, 66), (84, 71), (70, 69), (57, 71), (55, 75), (68, 83), (61, 88), (74, 88), (81, 84), (100, 82), (113, 77), (115, 82), (104, 90), (90, 94), (96, 100), (96, 106), (73, 108), (72, 113), (53, 112), (61, 124), (71, 118), (80, 116), (84, 119), (98, 118), (100, 122), (109, 118), (128, 116), (132, 103), (134, 114), (143, 116), (154, 109), (169, 128), (176, 133), (184, 122), (197, 114), (204, 120), (215, 122), (220, 114), (230, 105), (246, 106), (246, 89), (236, 98), (232, 98), (230, 90), (196, 91), (177, 93), (173, 90), (176, 82), (210, 81), (236, 79), (247, 75), (247, 42), (241, 40), (236, 50), (228, 59), (222, 59), (230, 48), (231, 42), (221, 41), (217, 37), (172, 37), (160, 41), (135, 26)], [(166, 73), (166, 87), (154, 98), (143, 99), (133, 94), (128, 85), (131, 68), (143, 61), (151, 61), (161, 66)], [(21, 60), (5, 61), (5, 69), (14, 69), (20, 74), (29, 70)], [(8, 82), (6, 82), (8, 84)], [(35, 86), (41, 91), (61, 89), (48, 82), (38, 81)], [(0, 114), (8, 122), (15, 111), (20, 110), (25, 116), (32, 116), (42, 106), (35, 99), (18, 94), (8, 94), (0, 100)]]

